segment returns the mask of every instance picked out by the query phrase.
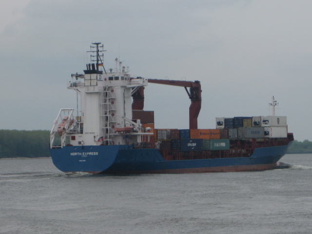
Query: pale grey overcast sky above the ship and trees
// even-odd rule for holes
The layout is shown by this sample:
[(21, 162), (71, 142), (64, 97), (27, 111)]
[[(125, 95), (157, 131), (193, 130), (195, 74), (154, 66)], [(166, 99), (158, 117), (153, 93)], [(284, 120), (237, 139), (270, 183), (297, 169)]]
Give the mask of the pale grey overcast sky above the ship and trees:
[[(51, 130), (66, 89), (100, 41), (144, 78), (200, 80), (199, 128), (215, 117), (287, 116), (312, 141), (311, 0), (4, 0), (0, 3), (0, 129)], [(156, 128), (189, 127), (181, 87), (149, 84)]]

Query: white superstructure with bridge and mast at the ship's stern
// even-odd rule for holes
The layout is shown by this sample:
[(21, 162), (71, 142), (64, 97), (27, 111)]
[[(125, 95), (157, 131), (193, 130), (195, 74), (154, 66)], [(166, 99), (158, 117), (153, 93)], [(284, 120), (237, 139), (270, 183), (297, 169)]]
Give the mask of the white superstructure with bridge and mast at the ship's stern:
[[(115, 59), (116, 68), (100, 71), (100, 43), (96, 46), (96, 63), (87, 64), (84, 74), (73, 74), (67, 84), (80, 96), (77, 116), (73, 109), (61, 109), (51, 131), (51, 147), (56, 134), (61, 137), (61, 146), (70, 145), (127, 145), (139, 143), (145, 133), (140, 121), (132, 121), (132, 94), (141, 86), (148, 84), (147, 79), (131, 78), (129, 69)], [(77, 105), (78, 106), (78, 105)], [(68, 113), (68, 114), (67, 114)], [(67, 114), (67, 116), (66, 116)], [(66, 116), (66, 117), (65, 117)], [(63, 121), (62, 121), (63, 120)], [(61, 123), (60, 123), (61, 122)]]

